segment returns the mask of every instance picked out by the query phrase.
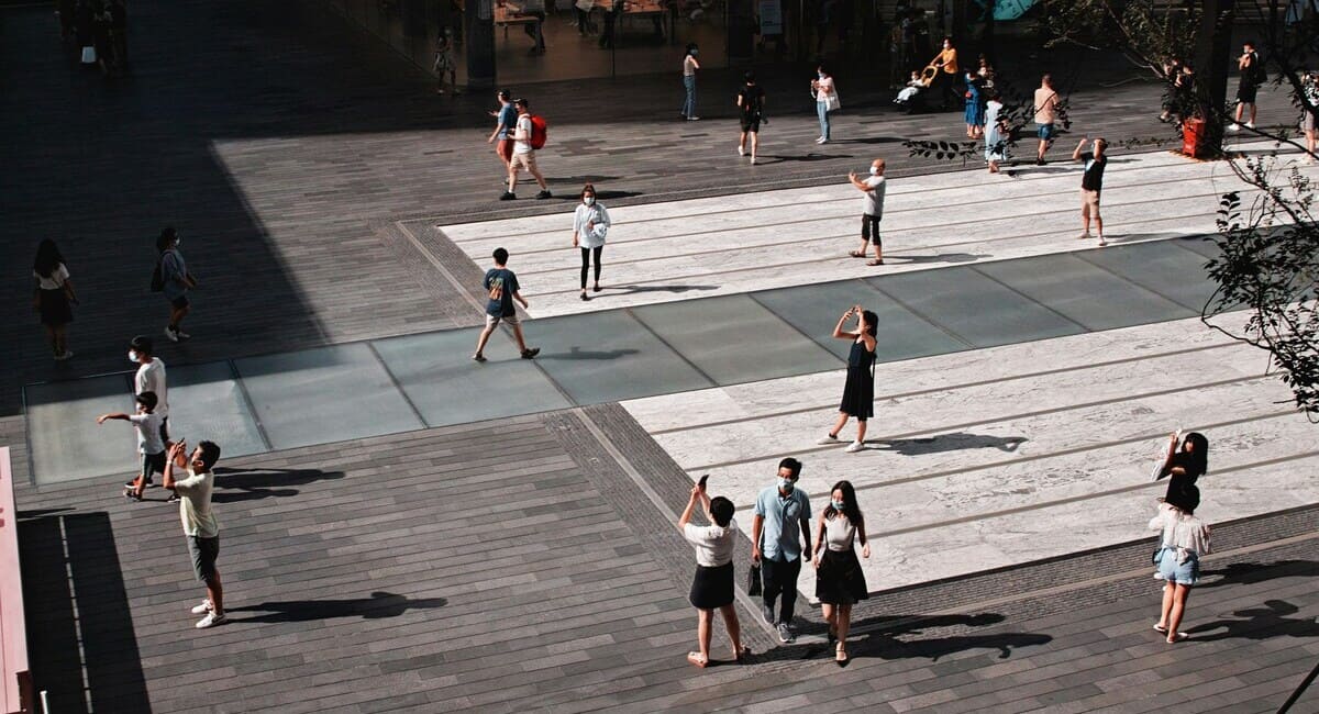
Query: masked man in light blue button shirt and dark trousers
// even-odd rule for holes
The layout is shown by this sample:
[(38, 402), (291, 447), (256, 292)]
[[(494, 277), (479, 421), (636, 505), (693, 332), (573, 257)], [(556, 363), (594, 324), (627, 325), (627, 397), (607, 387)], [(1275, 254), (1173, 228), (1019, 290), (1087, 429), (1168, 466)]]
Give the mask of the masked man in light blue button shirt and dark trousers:
[[(756, 497), (756, 515), (751, 522), (751, 560), (758, 563), (764, 578), (761, 613), (765, 622), (778, 626), (778, 639), (790, 643), (793, 634), (793, 606), (797, 605), (797, 576), (802, 560), (811, 559), (811, 501), (797, 487), (802, 462), (785, 458), (778, 462), (777, 483)], [(798, 527), (802, 539), (797, 540)], [(774, 601), (783, 595), (778, 619), (774, 619)]]

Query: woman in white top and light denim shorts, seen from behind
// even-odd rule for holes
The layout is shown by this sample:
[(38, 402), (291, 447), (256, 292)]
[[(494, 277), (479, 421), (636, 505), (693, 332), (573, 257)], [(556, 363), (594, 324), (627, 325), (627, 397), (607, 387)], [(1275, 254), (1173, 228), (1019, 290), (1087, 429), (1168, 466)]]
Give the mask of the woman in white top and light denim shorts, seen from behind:
[(1163, 584), (1163, 610), (1154, 630), (1167, 635), (1169, 644), (1188, 635), (1177, 628), (1186, 614), (1186, 598), (1191, 586), (1200, 580), (1200, 556), (1210, 552), (1210, 527), (1195, 518), (1200, 505), (1200, 490), (1191, 483), (1181, 483), (1159, 503), (1158, 515), (1150, 519), (1151, 531), (1162, 531), (1159, 549), (1154, 555)]

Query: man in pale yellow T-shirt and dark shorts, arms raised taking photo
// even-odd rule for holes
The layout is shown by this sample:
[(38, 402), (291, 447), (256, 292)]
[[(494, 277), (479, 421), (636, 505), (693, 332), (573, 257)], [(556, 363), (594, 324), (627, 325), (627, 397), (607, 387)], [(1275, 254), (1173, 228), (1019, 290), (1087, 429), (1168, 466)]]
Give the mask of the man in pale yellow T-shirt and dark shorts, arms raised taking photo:
[[(178, 515), (187, 537), (187, 552), (193, 556), (193, 573), (206, 584), (206, 599), (193, 607), (194, 615), (206, 615), (197, 623), (198, 630), (223, 624), (224, 586), (215, 560), (220, 555), (220, 523), (211, 511), (211, 490), (215, 487), (215, 462), (220, 460), (220, 447), (202, 441), (187, 454), (187, 444), (175, 443), (165, 461), (165, 487), (179, 497)], [(186, 478), (175, 478), (175, 469), (187, 469)]]

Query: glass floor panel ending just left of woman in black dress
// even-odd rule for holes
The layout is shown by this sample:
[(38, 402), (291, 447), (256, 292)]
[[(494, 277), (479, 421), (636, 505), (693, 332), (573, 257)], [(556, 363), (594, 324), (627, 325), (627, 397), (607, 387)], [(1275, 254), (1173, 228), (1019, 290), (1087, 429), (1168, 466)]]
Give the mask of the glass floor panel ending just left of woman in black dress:
[(632, 310), (661, 340), (719, 385), (842, 366), (814, 340), (747, 295)]

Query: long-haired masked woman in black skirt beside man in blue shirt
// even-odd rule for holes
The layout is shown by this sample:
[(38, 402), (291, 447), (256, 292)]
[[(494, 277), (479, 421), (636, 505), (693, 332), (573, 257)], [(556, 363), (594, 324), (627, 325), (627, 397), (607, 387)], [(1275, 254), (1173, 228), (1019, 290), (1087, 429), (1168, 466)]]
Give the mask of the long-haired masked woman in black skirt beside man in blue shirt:
[(839, 481), (830, 490), (830, 503), (815, 524), (815, 598), (820, 601), (828, 639), (836, 642), (834, 660), (847, 663), (847, 631), (852, 626), (852, 606), (871, 597), (853, 541), (861, 544), (861, 557), (871, 557), (865, 540), (865, 518), (856, 502), (851, 481)]

